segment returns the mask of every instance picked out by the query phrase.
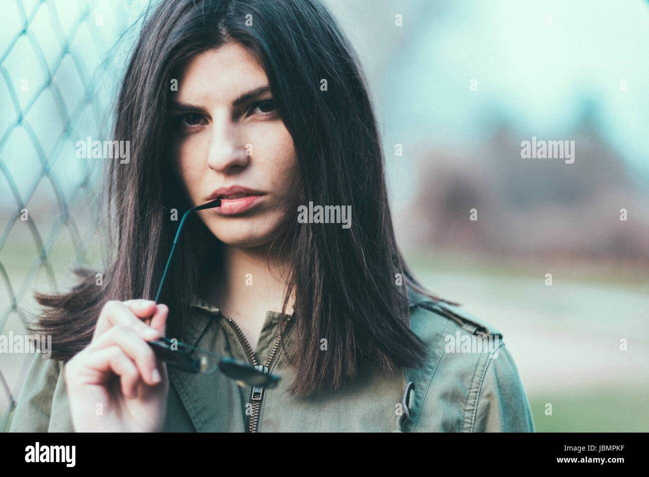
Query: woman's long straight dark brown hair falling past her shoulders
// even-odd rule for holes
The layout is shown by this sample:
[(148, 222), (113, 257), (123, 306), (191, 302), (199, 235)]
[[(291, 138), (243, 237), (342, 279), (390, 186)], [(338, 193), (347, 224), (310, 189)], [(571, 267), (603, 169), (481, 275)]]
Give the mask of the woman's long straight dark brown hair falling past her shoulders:
[[(248, 17), (247, 17), (248, 16)], [(252, 25), (246, 25), (247, 19)], [(421, 365), (426, 349), (410, 330), (406, 286), (437, 300), (411, 275), (398, 251), (387, 202), (384, 158), (356, 56), (317, 0), (164, 0), (147, 19), (117, 103), (115, 140), (130, 141), (130, 162), (107, 173), (110, 236), (104, 285), (81, 280), (63, 295), (37, 293), (46, 307), (38, 330), (53, 336), (53, 358), (67, 360), (92, 339), (107, 300), (153, 299), (178, 222), (191, 205), (171, 172), (167, 104), (171, 80), (188, 58), (238, 42), (262, 64), (299, 162), (299, 203), (351, 206), (352, 226), (291, 221), (282, 250), (290, 262), (283, 312), (295, 291), (291, 393), (337, 389), (362, 363), (386, 373)], [(321, 79), (327, 90), (321, 90)], [(188, 317), (186, 297), (218, 266), (221, 248), (192, 219), (166, 281), (169, 321)], [(110, 222), (110, 221), (109, 221)], [(400, 273), (403, 285), (395, 284)], [(328, 351), (321, 352), (321, 338)]]

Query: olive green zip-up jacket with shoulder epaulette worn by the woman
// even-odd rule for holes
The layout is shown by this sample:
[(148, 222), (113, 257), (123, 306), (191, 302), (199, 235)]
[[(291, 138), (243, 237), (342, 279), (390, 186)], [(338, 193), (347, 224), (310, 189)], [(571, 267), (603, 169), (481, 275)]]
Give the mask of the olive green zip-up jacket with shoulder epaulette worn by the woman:
[[(236, 324), (194, 297), (187, 344), (253, 364), (265, 364), (273, 354), (270, 371), (282, 379), (274, 389), (252, 389), (218, 372), (188, 374), (167, 367), (164, 431), (244, 432), (252, 427), (256, 432), (533, 432), (530, 404), (502, 334), (460, 308), (436, 304), (412, 290), (410, 297), (411, 328), (428, 347), (424, 367), (396, 374), (364, 369), (353, 384), (306, 398), (286, 392), (293, 370), (284, 353), (276, 350), (280, 320), (290, 317), (266, 313), (252, 359)], [(493, 340), (486, 352), (469, 346), (481, 337)], [(290, 323), (284, 340), (290, 345)], [(74, 430), (63, 366), (36, 354), (12, 432)]]

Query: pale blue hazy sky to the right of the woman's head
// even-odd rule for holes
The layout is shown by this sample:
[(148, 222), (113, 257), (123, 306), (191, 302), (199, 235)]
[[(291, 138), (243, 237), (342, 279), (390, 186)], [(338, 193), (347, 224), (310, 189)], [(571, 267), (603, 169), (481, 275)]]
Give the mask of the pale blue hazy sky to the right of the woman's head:
[[(503, 120), (521, 140), (569, 140), (591, 103), (600, 134), (649, 191), (648, 1), (328, 3), (360, 53), (388, 153), (422, 140), (472, 149)], [(390, 168), (408, 184), (403, 169)]]

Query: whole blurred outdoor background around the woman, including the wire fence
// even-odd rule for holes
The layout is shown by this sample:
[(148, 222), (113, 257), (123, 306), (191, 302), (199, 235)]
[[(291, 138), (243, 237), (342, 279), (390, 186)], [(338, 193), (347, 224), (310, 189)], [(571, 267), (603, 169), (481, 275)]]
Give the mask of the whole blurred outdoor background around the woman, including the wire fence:
[[(649, 3), (324, 1), (367, 77), (415, 275), (503, 332), (537, 431), (649, 430)], [(3, 0), (0, 334), (99, 263), (102, 160), (75, 143), (108, 138), (147, 5)], [(574, 141), (574, 163), (522, 158), (532, 137)], [(0, 429), (30, 362), (0, 354)]]

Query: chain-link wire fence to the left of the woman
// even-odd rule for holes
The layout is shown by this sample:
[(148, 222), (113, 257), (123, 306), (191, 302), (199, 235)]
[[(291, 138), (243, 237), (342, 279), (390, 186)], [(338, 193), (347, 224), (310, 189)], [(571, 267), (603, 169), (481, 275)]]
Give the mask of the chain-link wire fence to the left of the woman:
[[(148, 1), (3, 0), (0, 29), (0, 430), (33, 353), (16, 350), (34, 289), (63, 291), (96, 240), (102, 164), (75, 143), (110, 132), (125, 55)], [(4, 291), (4, 293), (3, 293)]]

